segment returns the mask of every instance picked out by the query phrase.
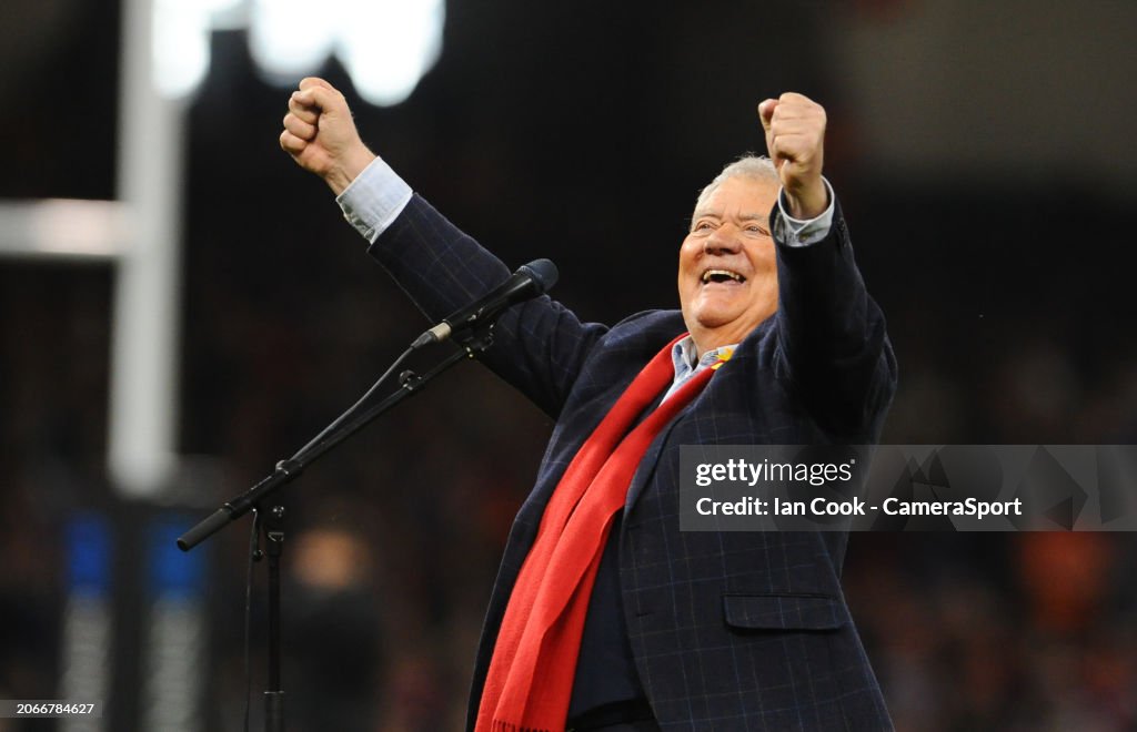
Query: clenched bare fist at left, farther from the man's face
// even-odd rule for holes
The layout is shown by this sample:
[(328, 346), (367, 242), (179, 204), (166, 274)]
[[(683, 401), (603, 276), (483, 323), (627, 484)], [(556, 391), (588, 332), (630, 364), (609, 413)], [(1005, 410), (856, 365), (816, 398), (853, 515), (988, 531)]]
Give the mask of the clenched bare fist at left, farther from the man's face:
[(375, 159), (359, 140), (343, 94), (314, 76), (301, 81), (288, 100), (281, 149), (323, 178), (335, 195)]

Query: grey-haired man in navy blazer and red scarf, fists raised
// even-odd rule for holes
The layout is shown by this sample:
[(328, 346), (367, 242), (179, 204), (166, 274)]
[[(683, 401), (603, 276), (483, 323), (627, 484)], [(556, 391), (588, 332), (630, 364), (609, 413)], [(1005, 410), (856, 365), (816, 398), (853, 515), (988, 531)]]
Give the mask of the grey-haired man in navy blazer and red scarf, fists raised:
[[(482, 360), (556, 427), (493, 588), (472, 730), (891, 726), (840, 588), (844, 533), (679, 530), (681, 445), (873, 443), (896, 385), (821, 175), (824, 110), (787, 93), (758, 117), (771, 159), (699, 196), (681, 311), (609, 328), (539, 297), (497, 322)], [(300, 83), (280, 143), (432, 320), (508, 277), (367, 150), (326, 82)]]

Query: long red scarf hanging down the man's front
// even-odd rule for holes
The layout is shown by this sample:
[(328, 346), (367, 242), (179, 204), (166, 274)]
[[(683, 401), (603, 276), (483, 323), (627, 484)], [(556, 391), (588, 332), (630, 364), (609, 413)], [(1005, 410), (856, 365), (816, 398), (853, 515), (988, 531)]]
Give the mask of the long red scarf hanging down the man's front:
[(623, 508), (652, 440), (721, 365), (696, 373), (629, 432), (674, 379), (671, 351), (683, 337), (639, 372), (553, 491), (501, 620), (475, 732), (564, 729), (584, 616), (612, 520)]

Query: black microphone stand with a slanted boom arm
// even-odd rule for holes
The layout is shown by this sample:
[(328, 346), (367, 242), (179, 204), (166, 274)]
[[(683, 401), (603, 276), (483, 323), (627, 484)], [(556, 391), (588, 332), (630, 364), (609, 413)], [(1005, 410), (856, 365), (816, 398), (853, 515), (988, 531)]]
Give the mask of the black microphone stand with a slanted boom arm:
[[(249, 488), (243, 494), (232, 500), (226, 502), (221, 508), (191, 528), (177, 539), (177, 547), (183, 552), (189, 552), (201, 544), (223, 527), (236, 521), (249, 511), (256, 510), (257, 514), (264, 516), (264, 529), (266, 538), (266, 552), (268, 556), (268, 690), (265, 691), (265, 730), (266, 732), (284, 732), (284, 691), (281, 689), (281, 653), (280, 653), (280, 557), (284, 548), (284, 508), (273, 506), (268, 511), (262, 511), (262, 503), (282, 486), (296, 480), (304, 470), (318, 460), (333, 447), (351, 437), (364, 427), (370, 424), (379, 415), (390, 411), (404, 399), (421, 392), (434, 377), (448, 370), (463, 359), (473, 359), (479, 353), (484, 352), (493, 340), (493, 325), (483, 326), (475, 330), (468, 338), (462, 342), (460, 350), (447, 356), (437, 367), (428, 371), (424, 376), (418, 376), (414, 371), (404, 371), (399, 375), (399, 388), (379, 404), (366, 409), (358, 404), (358, 414), (355, 407), (345, 413), (333, 424), (334, 429), (325, 430), (322, 437), (302, 447), (297, 454), (288, 460), (276, 463), (275, 470), (260, 482)], [(412, 346), (412, 351), (417, 346)], [(409, 353), (409, 351), (407, 352)], [(406, 354), (405, 354), (406, 355)], [(398, 362), (396, 362), (398, 363)], [(376, 385), (377, 386), (377, 385)], [(342, 423), (341, 423), (342, 422)]]

